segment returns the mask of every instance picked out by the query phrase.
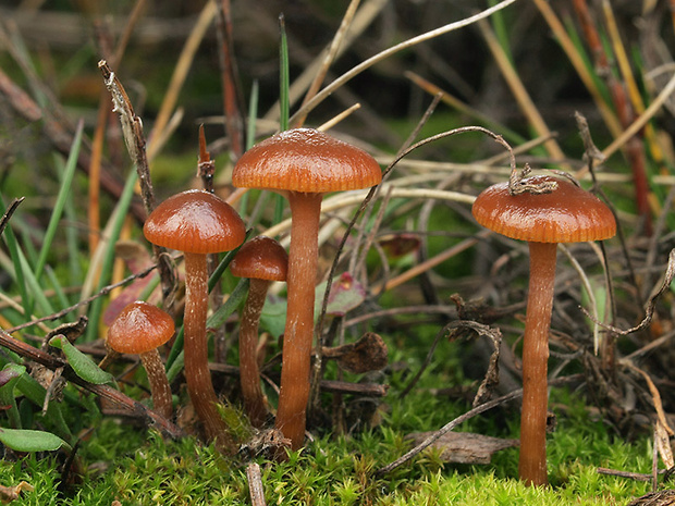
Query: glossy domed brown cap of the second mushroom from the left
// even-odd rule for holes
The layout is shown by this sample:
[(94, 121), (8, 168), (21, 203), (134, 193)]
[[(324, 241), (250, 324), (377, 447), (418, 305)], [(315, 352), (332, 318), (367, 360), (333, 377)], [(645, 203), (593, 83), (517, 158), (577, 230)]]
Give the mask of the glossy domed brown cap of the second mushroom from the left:
[(205, 255), (230, 251), (246, 237), (237, 212), (200, 189), (182, 192), (161, 202), (147, 218), (143, 232), (158, 246)]

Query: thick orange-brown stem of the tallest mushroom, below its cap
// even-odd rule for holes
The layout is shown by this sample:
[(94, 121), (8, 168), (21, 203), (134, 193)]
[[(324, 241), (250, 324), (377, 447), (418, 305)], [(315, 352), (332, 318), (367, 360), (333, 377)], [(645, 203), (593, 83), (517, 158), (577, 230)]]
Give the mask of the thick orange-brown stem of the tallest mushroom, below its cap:
[(291, 448), (295, 451), (305, 440), (305, 418), (309, 399), (322, 195), (290, 192), (287, 197), (292, 215), (286, 277), (289, 308), (275, 427), (291, 440)]

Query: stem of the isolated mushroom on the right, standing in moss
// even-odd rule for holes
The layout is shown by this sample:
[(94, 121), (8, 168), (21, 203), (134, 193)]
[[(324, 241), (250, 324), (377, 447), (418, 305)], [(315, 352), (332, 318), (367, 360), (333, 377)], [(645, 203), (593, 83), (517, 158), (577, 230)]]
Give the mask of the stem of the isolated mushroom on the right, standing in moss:
[(518, 473), (545, 485), (549, 329), (555, 284), (556, 243), (529, 243), (530, 281), (523, 338), (523, 410)]

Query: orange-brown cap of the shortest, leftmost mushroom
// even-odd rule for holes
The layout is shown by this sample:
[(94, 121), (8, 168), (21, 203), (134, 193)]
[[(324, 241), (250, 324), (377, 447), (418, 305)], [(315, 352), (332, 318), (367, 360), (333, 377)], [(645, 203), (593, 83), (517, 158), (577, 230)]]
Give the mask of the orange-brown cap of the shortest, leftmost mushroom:
[(175, 328), (169, 314), (144, 301), (128, 304), (108, 329), (108, 345), (118, 353), (140, 355), (171, 338)]

